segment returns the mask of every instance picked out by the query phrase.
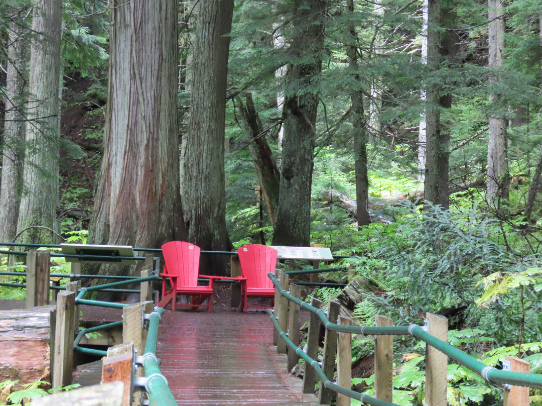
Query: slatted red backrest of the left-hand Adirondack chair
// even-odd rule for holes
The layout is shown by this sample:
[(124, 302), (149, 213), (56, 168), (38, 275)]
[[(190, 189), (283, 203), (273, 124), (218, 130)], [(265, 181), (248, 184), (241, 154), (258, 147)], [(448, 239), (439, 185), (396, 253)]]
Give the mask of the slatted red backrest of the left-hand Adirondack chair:
[(170, 241), (162, 245), (167, 273), (178, 275), (177, 286), (197, 286), (199, 251), (197, 245), (184, 241)]

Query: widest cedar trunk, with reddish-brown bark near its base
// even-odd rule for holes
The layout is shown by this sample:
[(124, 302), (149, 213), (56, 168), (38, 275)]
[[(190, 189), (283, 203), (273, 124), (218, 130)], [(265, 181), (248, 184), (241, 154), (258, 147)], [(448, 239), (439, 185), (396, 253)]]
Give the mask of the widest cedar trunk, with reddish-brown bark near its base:
[[(183, 237), (177, 1), (115, 1), (110, 30), (104, 157), (90, 238), (95, 244), (159, 248)], [(130, 271), (102, 266), (100, 272)]]

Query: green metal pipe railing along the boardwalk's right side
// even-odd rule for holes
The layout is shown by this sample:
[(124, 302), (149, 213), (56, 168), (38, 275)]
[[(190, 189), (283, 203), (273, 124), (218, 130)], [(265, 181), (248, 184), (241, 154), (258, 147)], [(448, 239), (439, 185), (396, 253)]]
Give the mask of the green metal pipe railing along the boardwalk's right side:
[[(410, 326), (370, 327), (345, 326), (331, 323), (330, 320), (327, 318), (326, 312), (324, 312), (324, 310), (311, 306), (307, 302), (304, 302), (297, 297), (289, 294), (288, 291), (286, 291), (280, 286), (279, 280), (275, 278), (275, 275), (272, 272), (269, 272), (267, 275), (272, 280), (275, 288), (280, 291), (280, 294), (282, 296), (286, 297), (286, 299), (288, 299), (289, 301), (294, 302), (302, 309), (306, 309), (309, 312), (316, 314), (322, 324), (325, 326), (325, 328), (330, 331), (363, 335), (411, 335), (412, 337), (420, 339), (426, 344), (435, 347), (438, 351), (446, 354), (446, 356), (455, 360), (457, 363), (466, 366), (468, 369), (481, 376), (487, 383), (494, 385), (513, 384), (517, 386), (528, 386), (530, 388), (542, 388), (542, 375), (525, 372), (504, 371), (496, 369), (492, 366), (485, 365), (481, 361), (469, 356), (466, 352), (463, 352), (458, 348), (455, 348), (453, 345), (450, 345), (447, 342), (442, 341), (429, 334), (424, 326), (412, 324)], [(296, 355), (307, 361), (307, 363), (313, 367), (315, 373), (317, 373), (325, 388), (349, 396), (353, 399), (357, 399), (367, 404), (375, 406), (393, 405), (392, 403), (384, 402), (380, 399), (360, 394), (359, 392), (343, 388), (333, 383), (327, 376), (325, 376), (317, 360), (309, 357), (305, 352), (301, 350), (301, 348), (296, 346), (291, 340), (288, 339), (287, 333), (282, 331), (282, 329), (280, 328), (273, 310), (268, 309), (267, 313), (272, 319), (275, 328), (278, 330), (280, 337), (282, 337), (282, 339), (286, 342), (286, 345), (292, 348), (295, 351)]]

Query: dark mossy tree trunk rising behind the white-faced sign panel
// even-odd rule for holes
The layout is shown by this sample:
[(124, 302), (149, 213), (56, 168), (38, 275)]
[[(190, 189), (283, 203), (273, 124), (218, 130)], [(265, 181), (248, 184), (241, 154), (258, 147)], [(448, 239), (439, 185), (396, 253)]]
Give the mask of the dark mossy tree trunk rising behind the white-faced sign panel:
[[(311, 239), (311, 186), (318, 95), (304, 87), (311, 86), (315, 76), (321, 72), (325, 5), (324, 0), (295, 2), (292, 20), (295, 33), (290, 39), (290, 53), (296, 62), (288, 66), (285, 75), (284, 137), (274, 245), (308, 246)], [(298, 87), (302, 88), (301, 92), (292, 91)]]

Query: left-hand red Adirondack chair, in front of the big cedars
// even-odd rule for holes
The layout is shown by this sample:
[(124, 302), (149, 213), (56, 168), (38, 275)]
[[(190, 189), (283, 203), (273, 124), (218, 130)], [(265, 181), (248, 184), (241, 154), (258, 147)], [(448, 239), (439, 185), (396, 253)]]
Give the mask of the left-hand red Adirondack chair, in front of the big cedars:
[[(162, 245), (164, 255), (164, 272), (162, 276), (162, 299), (158, 306), (165, 307), (172, 300), (171, 309), (175, 312), (175, 306), (197, 308), (207, 306), (211, 311), (212, 302), (212, 281), (216, 277), (198, 275), (199, 269), (199, 247), (184, 241), (170, 241)], [(207, 286), (198, 285), (198, 276), (209, 278)], [(167, 281), (171, 288), (167, 289)], [(191, 297), (190, 305), (178, 304), (177, 295)], [(202, 303), (209, 299), (207, 305)]]

